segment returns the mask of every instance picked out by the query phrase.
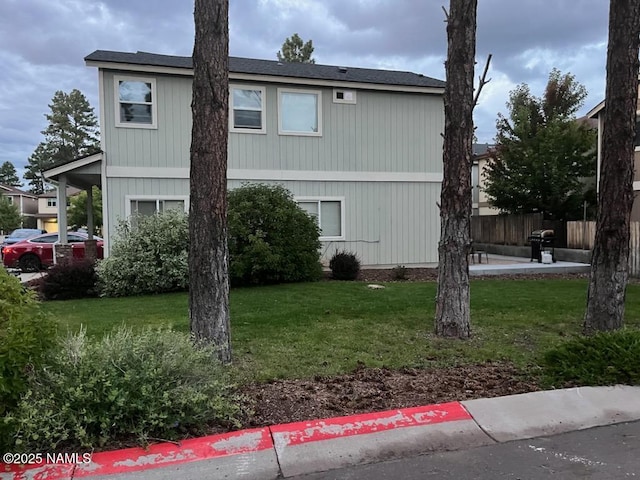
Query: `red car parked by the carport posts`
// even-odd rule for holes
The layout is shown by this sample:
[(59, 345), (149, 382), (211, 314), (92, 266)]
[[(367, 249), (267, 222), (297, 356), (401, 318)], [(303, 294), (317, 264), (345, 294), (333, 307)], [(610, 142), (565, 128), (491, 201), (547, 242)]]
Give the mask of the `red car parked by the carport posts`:
[[(67, 241), (71, 244), (74, 258), (84, 258), (84, 242), (88, 238), (84, 233), (67, 233)], [(102, 258), (104, 242), (100, 237), (94, 236), (93, 239), (97, 240), (98, 258)], [(57, 233), (31, 237), (4, 247), (2, 260), (8, 268), (20, 268), (23, 272), (36, 272), (43, 267), (53, 265), (53, 245), (57, 242)]]

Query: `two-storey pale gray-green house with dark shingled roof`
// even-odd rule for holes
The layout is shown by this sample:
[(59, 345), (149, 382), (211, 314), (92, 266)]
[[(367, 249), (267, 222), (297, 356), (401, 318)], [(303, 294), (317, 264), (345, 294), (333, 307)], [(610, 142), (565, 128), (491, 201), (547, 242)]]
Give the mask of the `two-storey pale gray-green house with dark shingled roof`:
[[(108, 254), (119, 219), (188, 211), (193, 68), (143, 52), (85, 61), (98, 68), (102, 152), (45, 175), (102, 189)], [(324, 261), (346, 249), (363, 265), (437, 262), (444, 82), (230, 57), (229, 83), (230, 189), (289, 189), (318, 219)]]

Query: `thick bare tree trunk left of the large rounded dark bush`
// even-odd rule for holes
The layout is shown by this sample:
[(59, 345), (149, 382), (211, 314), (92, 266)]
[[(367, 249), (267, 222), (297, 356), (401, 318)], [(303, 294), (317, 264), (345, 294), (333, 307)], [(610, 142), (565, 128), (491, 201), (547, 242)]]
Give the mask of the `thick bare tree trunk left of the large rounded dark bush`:
[(229, 1), (195, 0), (189, 208), (189, 323), (231, 361), (227, 247)]

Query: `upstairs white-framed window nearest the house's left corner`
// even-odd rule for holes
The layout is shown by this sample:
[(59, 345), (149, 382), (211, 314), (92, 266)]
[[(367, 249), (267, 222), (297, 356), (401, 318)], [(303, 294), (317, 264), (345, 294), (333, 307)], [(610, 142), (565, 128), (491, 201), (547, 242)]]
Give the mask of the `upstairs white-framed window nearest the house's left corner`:
[(155, 78), (114, 77), (116, 127), (158, 128)]

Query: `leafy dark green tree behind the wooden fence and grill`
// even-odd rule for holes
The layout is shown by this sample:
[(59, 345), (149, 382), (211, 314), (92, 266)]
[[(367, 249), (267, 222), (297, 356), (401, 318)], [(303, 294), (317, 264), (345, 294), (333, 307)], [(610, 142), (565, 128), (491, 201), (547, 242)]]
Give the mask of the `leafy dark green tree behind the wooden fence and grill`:
[(509, 116), (498, 115), (497, 147), (487, 162), (485, 192), (503, 212), (543, 212), (581, 218), (596, 173), (596, 133), (575, 113), (587, 91), (554, 69), (541, 98), (526, 84), (509, 96)]

